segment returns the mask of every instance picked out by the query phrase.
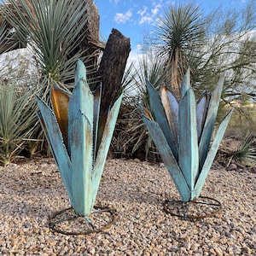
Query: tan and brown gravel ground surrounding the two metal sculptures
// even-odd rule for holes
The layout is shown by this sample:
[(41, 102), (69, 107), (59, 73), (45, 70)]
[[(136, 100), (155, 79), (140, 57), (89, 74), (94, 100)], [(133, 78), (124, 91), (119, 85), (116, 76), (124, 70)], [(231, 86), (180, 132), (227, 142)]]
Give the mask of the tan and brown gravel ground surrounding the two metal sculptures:
[(213, 168), (201, 195), (224, 210), (194, 221), (163, 211), (178, 198), (162, 164), (108, 160), (96, 205), (115, 209), (108, 231), (67, 236), (49, 216), (70, 207), (55, 162), (0, 167), (0, 255), (256, 255), (256, 174)]

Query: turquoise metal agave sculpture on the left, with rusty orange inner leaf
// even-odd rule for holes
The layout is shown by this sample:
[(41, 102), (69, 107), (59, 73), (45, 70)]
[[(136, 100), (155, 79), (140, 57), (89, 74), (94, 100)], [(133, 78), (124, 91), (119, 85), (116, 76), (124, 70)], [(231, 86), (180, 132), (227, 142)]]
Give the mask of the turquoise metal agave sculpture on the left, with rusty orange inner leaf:
[(82, 61), (77, 61), (75, 83), (70, 97), (59, 87), (52, 86), (53, 110), (38, 97), (38, 118), (73, 209), (81, 216), (89, 216), (96, 201), (122, 96), (98, 125), (101, 90), (94, 94), (90, 91)]

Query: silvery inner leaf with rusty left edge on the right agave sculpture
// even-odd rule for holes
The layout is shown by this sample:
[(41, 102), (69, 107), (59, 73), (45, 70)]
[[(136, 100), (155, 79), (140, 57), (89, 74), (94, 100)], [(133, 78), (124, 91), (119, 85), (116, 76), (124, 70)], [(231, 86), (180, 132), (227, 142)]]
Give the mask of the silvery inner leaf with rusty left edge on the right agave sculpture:
[(172, 133), (175, 138), (176, 143), (178, 144), (178, 102), (176, 97), (172, 94), (172, 91), (168, 89), (166, 84), (161, 86), (160, 97), (163, 104), (163, 107), (166, 111), (166, 117), (168, 123), (172, 128)]

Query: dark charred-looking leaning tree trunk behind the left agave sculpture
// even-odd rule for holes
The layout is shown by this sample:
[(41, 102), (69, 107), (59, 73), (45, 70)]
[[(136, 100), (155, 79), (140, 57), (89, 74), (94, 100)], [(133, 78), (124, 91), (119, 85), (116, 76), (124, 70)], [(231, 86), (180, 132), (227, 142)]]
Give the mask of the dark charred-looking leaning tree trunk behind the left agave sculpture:
[(125, 38), (118, 30), (112, 30), (98, 70), (102, 81), (102, 109), (100, 116), (113, 105), (121, 92), (121, 81), (131, 51), (130, 38)]

